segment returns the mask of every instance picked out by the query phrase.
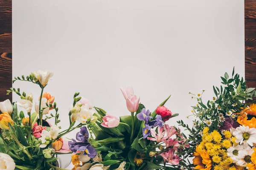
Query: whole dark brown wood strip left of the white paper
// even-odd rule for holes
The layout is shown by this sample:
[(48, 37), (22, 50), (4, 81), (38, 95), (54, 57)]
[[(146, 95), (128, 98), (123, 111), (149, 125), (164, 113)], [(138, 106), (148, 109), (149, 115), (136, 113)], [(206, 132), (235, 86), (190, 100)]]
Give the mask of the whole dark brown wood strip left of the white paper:
[(12, 101), (12, 0), (0, 0), (0, 102)]

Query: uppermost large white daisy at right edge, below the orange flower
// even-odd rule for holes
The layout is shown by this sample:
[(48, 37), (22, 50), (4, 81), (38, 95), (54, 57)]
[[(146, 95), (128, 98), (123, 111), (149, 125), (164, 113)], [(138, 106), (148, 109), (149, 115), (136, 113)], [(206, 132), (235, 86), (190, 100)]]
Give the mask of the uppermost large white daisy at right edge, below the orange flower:
[(240, 126), (236, 127), (236, 130), (233, 131), (233, 136), (236, 137), (236, 143), (242, 144), (243, 141), (247, 142), (250, 146), (253, 146), (253, 143), (256, 142), (256, 129), (249, 126)]

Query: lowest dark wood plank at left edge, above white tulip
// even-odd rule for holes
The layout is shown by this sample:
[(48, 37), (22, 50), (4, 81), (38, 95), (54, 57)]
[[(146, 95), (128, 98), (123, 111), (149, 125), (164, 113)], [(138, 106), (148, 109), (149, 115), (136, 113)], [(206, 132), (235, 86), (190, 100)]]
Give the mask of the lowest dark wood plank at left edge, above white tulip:
[(12, 94), (6, 96), (6, 90), (12, 87), (12, 53), (0, 53), (0, 101), (10, 99)]

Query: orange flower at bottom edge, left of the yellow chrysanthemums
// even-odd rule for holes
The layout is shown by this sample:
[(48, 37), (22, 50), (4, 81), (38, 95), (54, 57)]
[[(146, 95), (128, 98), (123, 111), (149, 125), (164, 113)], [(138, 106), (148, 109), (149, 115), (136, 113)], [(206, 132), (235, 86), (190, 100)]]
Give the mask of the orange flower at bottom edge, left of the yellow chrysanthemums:
[(200, 152), (198, 147), (196, 147), (194, 156), (195, 158), (193, 159), (193, 164), (196, 165), (195, 170), (212, 169), (212, 160), (210, 159), (210, 156), (205, 150)]

